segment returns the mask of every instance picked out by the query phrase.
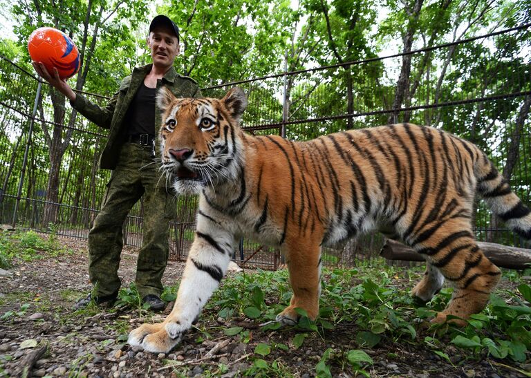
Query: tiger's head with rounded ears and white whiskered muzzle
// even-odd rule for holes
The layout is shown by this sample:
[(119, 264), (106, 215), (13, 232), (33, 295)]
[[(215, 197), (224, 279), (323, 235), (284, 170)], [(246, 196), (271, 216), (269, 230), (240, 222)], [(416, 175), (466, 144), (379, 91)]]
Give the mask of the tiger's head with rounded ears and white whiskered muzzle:
[(162, 170), (177, 193), (197, 194), (236, 178), (243, 160), (239, 123), (248, 104), (240, 88), (218, 100), (176, 98), (162, 87), (157, 103)]

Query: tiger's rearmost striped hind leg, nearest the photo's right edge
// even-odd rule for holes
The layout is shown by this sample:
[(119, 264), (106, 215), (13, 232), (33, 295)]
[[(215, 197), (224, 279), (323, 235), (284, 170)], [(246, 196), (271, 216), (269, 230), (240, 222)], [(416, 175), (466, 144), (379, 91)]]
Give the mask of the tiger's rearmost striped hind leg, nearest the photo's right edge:
[[(439, 312), (432, 322), (444, 323), (448, 315), (468, 319), (470, 315), (481, 312), (500, 280), (500, 270), (479, 249), (470, 225), (464, 220), (448, 220), (430, 234), (422, 243), (413, 243), (413, 247), (425, 255), (431, 266), (454, 286), (447, 308)], [(421, 281), (417, 287), (415, 292), (420, 294), (420, 288), (425, 285)], [(451, 319), (451, 322), (466, 324), (459, 319)]]

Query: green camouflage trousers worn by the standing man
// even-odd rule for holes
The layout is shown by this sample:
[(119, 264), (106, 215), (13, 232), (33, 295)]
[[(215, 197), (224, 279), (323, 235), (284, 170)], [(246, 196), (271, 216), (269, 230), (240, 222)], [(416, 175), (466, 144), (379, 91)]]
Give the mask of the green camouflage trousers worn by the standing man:
[(113, 296), (120, 289), (122, 226), (142, 195), (143, 240), (136, 265), (136, 287), (140, 298), (148, 294), (160, 296), (162, 292), (162, 274), (169, 256), (169, 220), (176, 214), (176, 205), (174, 194), (165, 187), (165, 178), (160, 178), (151, 151), (149, 146), (124, 144), (107, 184), (102, 209), (88, 234), (88, 273), (95, 285), (95, 296)]

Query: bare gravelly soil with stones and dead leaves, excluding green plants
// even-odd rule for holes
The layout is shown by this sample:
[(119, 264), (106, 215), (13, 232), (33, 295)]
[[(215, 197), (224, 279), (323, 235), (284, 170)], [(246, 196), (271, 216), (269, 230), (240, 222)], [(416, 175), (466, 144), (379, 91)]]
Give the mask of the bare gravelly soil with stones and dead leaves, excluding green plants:
[[(73, 313), (75, 301), (90, 290), (88, 282), (86, 245), (83, 240), (61, 239), (61, 244), (73, 251), (55, 258), (18, 262), (15, 267), (0, 274), (0, 316), (12, 311), (8, 319), (0, 320), (0, 377), (15, 375), (21, 364), (35, 355), (39, 346), (48, 346), (46, 353), (37, 359), (30, 375), (34, 377), (175, 377), (243, 375), (260, 357), (278, 369), (266, 376), (315, 376), (315, 366), (326, 348), (336, 353), (356, 349), (355, 324), (339, 323), (324, 336), (309, 333), (300, 348), (292, 345), (296, 330), (262, 331), (249, 319), (232, 319), (226, 323), (215, 316), (205, 316), (191, 330), (183, 343), (168, 355), (153, 355), (124, 342), (129, 330), (146, 320), (162, 319), (164, 314), (125, 308)], [(165, 285), (176, 283), (184, 263), (170, 262)], [(133, 281), (136, 255), (124, 251), (120, 265), (122, 285)], [(232, 273), (236, 274), (236, 273)], [(24, 306), (28, 304), (29, 306)], [(171, 305), (171, 304), (170, 304)], [(25, 311), (21, 311), (21, 308)], [(165, 312), (169, 312), (170, 307)], [(17, 314), (19, 312), (19, 314)], [(241, 337), (227, 336), (223, 330), (241, 326), (250, 331), (250, 341), (242, 343)], [(209, 339), (204, 333), (208, 332)], [(418, 337), (424, 337), (418, 330)], [(201, 339), (200, 337), (203, 337)], [(35, 346), (35, 342), (39, 346)], [(283, 343), (288, 350), (272, 348), (270, 355), (254, 355), (258, 343), (270, 345)], [(30, 348), (25, 348), (27, 344)], [(214, 356), (207, 355), (216, 350)], [(427, 348), (404, 339), (386, 339), (378, 347), (365, 350), (374, 360), (367, 368), (373, 377), (523, 377), (511, 368), (505, 368), (492, 359), (469, 359), (463, 350), (452, 346), (446, 352), (448, 363)], [(220, 369), (220, 363), (225, 367)], [(505, 362), (506, 363), (506, 362)], [(176, 370), (170, 364), (178, 364)], [(516, 366), (531, 370), (531, 366)], [(355, 372), (346, 366), (330, 366), (335, 377), (352, 377)], [(2, 370), (3, 369), (3, 370)]]

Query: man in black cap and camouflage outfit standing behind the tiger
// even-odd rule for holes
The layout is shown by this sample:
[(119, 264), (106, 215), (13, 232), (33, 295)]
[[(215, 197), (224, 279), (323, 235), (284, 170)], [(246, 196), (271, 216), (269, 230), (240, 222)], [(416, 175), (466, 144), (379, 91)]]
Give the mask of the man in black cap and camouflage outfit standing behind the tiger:
[[(37, 73), (63, 93), (73, 108), (98, 126), (109, 129), (109, 140), (100, 158), (100, 168), (113, 169), (107, 184), (102, 210), (88, 234), (89, 267), (93, 296), (77, 302), (84, 308), (91, 301), (112, 305), (118, 296), (118, 265), (122, 252), (122, 225), (129, 210), (145, 194), (143, 241), (136, 270), (136, 287), (143, 303), (162, 310), (162, 274), (169, 255), (169, 220), (175, 216), (174, 193), (160, 179), (156, 164), (159, 155), (155, 138), (161, 122), (156, 106), (156, 91), (166, 86), (177, 97), (201, 97), (193, 79), (178, 75), (173, 68), (179, 55), (178, 28), (171, 19), (158, 15), (151, 21), (147, 46), (152, 64), (135, 68), (125, 77), (120, 89), (104, 108), (75, 93), (60, 79), (54, 68), (50, 75), (40, 62), (33, 62)], [(160, 156), (158, 156), (160, 158)]]

